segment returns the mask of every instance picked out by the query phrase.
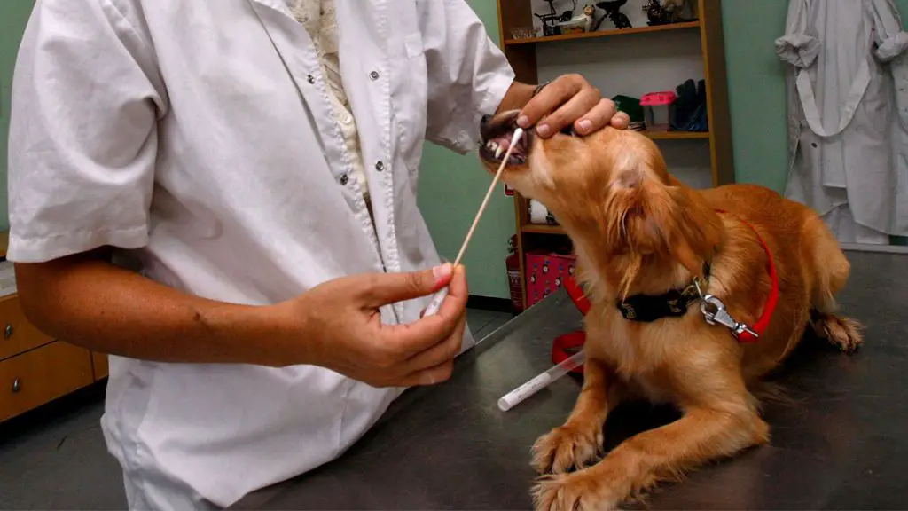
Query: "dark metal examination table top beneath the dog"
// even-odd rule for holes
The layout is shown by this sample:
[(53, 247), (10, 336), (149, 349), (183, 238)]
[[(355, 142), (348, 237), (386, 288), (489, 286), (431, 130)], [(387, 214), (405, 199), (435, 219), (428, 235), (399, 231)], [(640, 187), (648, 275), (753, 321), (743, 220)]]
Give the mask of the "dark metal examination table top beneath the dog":
[[(805, 339), (780, 376), (795, 404), (766, 408), (771, 445), (662, 486), (649, 509), (908, 509), (908, 256), (848, 256), (841, 302), (867, 326), (861, 351)], [(234, 508), (531, 508), (529, 448), (565, 420), (580, 384), (562, 378), (507, 413), (496, 402), (548, 369), (551, 340), (579, 322), (567, 294), (551, 296), (462, 356), (449, 382), (401, 396), (345, 456)], [(623, 406), (607, 444), (674, 414)]]

